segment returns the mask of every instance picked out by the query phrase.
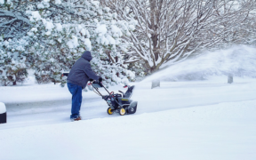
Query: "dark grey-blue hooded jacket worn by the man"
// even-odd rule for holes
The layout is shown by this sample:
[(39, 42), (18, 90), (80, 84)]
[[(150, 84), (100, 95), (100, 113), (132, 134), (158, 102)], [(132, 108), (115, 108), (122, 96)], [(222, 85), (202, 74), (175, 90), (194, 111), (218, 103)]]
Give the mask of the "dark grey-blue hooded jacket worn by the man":
[(68, 83), (79, 85), (84, 89), (90, 79), (98, 80), (99, 76), (96, 76), (92, 71), (91, 60), (91, 52), (84, 52), (81, 58), (76, 60), (76, 63), (71, 68), (68, 74)]

